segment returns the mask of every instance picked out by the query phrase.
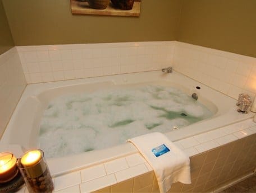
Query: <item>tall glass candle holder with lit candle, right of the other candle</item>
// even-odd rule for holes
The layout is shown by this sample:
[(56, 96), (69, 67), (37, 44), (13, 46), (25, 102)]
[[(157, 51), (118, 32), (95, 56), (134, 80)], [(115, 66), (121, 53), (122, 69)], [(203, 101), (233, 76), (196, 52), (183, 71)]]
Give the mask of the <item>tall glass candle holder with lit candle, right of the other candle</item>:
[(42, 150), (35, 149), (26, 152), (18, 159), (17, 166), (30, 193), (53, 191), (52, 177)]

